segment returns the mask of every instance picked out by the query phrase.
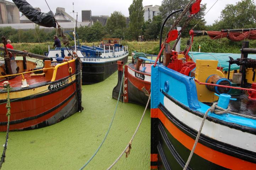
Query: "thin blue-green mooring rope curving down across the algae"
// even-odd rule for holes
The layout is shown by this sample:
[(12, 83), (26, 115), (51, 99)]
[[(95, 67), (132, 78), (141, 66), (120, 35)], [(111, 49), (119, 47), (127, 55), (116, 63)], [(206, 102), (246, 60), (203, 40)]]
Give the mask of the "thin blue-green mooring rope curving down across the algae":
[(123, 78), (124, 78), (124, 70), (123, 70), (123, 76), (122, 76), (121, 86), (120, 86), (120, 90), (119, 90), (119, 95), (118, 95), (118, 99), (117, 99), (117, 103), (116, 103), (116, 109), (115, 109), (115, 112), (114, 112), (114, 114), (113, 114), (113, 117), (112, 117), (112, 120), (111, 120), (111, 122), (110, 122), (110, 125), (109, 125), (109, 127), (108, 127), (108, 129), (107, 129), (107, 132), (106, 132), (106, 134), (105, 134), (105, 137), (104, 137), (104, 139), (102, 140), (102, 142), (100, 143), (100, 146), (98, 147), (98, 149), (96, 149), (96, 151), (95, 151), (94, 154), (91, 156), (91, 158), (80, 168), (80, 170), (84, 169), (85, 166), (87, 166), (87, 165), (91, 162), (91, 160), (92, 160), (92, 159), (95, 157), (95, 155), (99, 152), (101, 146), (103, 145), (103, 143), (105, 142), (105, 140), (106, 140), (106, 138), (107, 138), (107, 135), (108, 135), (108, 133), (109, 133), (109, 131), (110, 131), (110, 128), (111, 128), (112, 123), (113, 123), (113, 120), (114, 120), (115, 115), (116, 115), (116, 110), (117, 110), (117, 106), (118, 106), (118, 103), (119, 103), (119, 98), (120, 98), (120, 96), (121, 96)]

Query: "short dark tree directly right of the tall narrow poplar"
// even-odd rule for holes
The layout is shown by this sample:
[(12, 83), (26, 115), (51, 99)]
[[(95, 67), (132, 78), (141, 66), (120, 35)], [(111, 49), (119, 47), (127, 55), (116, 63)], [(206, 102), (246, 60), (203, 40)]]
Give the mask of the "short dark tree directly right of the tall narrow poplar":
[[(148, 22), (148, 23), (147, 23)], [(145, 22), (145, 32), (144, 39), (145, 40), (156, 40), (159, 37), (159, 33), (162, 26), (162, 18), (161, 16), (154, 16), (152, 22)]]

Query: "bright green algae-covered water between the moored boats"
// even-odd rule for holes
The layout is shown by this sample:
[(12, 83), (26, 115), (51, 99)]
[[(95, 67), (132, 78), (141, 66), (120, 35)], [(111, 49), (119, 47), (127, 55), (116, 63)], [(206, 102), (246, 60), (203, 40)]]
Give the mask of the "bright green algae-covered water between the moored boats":
[[(112, 89), (117, 72), (105, 81), (83, 85), (83, 112), (41, 129), (10, 132), (2, 170), (79, 169), (94, 154), (103, 140), (115, 111), (117, 100)], [(119, 102), (116, 117), (105, 143), (85, 169), (107, 169), (132, 137), (144, 107)], [(5, 142), (0, 133), (0, 147)], [(0, 152), (2, 152), (1, 148)], [(150, 168), (150, 110), (145, 114), (132, 142), (128, 158), (123, 155), (112, 169), (148, 170)]]

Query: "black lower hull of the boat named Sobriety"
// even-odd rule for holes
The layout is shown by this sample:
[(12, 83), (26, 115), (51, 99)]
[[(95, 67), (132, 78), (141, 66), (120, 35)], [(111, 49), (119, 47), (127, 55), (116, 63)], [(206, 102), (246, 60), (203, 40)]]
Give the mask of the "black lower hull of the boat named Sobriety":
[(120, 60), (105, 63), (85, 63), (82, 67), (82, 84), (95, 84), (104, 81), (117, 71), (117, 61), (127, 63), (128, 55)]

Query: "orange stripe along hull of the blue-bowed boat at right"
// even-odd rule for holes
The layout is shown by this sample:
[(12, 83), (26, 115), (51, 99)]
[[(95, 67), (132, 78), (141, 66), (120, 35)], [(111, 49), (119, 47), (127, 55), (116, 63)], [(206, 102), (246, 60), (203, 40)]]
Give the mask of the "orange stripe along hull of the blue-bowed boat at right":
[[(174, 124), (172, 124), (171, 121), (169, 121), (169, 119), (166, 118), (165, 115), (160, 111), (160, 109), (158, 109), (158, 118), (165, 125), (166, 129), (171, 133), (171, 135), (174, 138), (176, 138), (182, 145), (184, 145), (186, 148), (190, 150), (193, 148), (195, 140), (189, 137), (188, 135), (184, 134)], [(212, 163), (215, 163), (228, 169), (256, 169), (256, 164), (254, 163), (247, 162), (245, 160), (215, 151), (214, 149), (208, 148), (202, 145), (201, 143), (197, 143), (195, 153)]]

